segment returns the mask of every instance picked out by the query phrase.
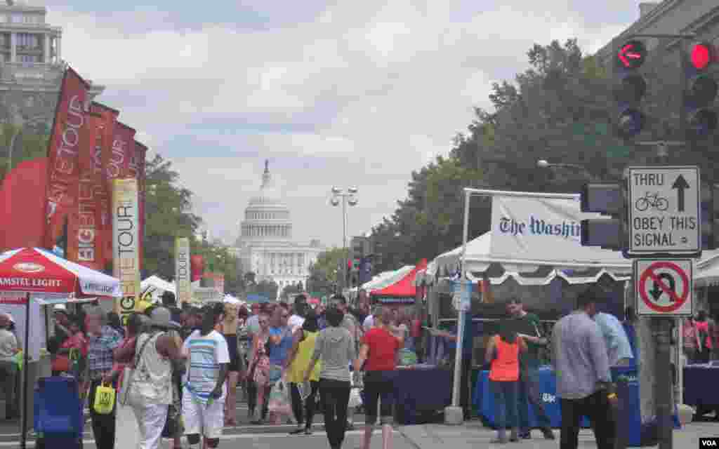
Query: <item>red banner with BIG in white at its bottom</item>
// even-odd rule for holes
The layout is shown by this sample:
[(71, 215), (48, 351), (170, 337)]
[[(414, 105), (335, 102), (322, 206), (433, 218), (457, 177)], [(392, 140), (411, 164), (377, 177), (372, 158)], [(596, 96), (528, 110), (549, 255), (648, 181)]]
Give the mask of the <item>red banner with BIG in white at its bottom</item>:
[(68, 220), (68, 254), (66, 258), (92, 269), (102, 269), (103, 264), (97, 257), (99, 251), (96, 251), (96, 245), (100, 241), (96, 221), (96, 208), (99, 206), (99, 201), (96, 198), (94, 167), (95, 148), (100, 136), (102, 116), (90, 112), (86, 114), (85, 119), (80, 134), (78, 202)]

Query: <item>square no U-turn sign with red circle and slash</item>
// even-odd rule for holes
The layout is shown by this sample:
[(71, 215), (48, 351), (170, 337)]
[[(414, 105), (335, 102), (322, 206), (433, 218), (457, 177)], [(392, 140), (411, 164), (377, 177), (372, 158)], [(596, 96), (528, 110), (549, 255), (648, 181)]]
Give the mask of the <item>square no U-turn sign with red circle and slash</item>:
[(634, 261), (637, 315), (692, 315), (692, 259)]

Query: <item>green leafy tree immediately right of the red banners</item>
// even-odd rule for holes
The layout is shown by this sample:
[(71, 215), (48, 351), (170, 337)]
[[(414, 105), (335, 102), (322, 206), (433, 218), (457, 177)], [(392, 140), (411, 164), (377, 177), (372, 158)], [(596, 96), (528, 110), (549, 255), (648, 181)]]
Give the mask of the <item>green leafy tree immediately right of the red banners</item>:
[(201, 218), (191, 212), (192, 192), (178, 186), (179, 173), (159, 154), (145, 162), (143, 277), (175, 277), (175, 239), (193, 235)]

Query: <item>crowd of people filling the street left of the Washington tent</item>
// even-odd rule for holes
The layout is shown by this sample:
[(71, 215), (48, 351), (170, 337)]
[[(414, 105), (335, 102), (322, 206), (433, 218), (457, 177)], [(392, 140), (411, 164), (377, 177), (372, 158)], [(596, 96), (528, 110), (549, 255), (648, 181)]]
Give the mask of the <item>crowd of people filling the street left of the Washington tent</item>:
[[(216, 448), (223, 427), (237, 424), (238, 387), (253, 423), (296, 422), (292, 435), (311, 435), (321, 409), (329, 444), (340, 448), (354, 427), (350, 392), (360, 385), (362, 448), (370, 447), (377, 421), (390, 448), (398, 353), (413, 344), (407, 343), (411, 322), (396, 310), (377, 307), (370, 314), (366, 302), (354, 309), (342, 295), (326, 307), (311, 307), (300, 295), (291, 307), (267, 302), (247, 310), (217, 302), (180, 308), (166, 293), (161, 305), (127, 315), (124, 325), (99, 305), (74, 314), (58, 305), (54, 315), (47, 342), (52, 374), (77, 379), (99, 449), (156, 449), (162, 438), (180, 449), (183, 437), (191, 448)], [(9, 325), (0, 314), (0, 375)], [(14, 348), (8, 351), (17, 351), (17, 339)], [(96, 390), (109, 385), (116, 390), (114, 406), (98, 412)], [(278, 396), (280, 385), (288, 392)]]

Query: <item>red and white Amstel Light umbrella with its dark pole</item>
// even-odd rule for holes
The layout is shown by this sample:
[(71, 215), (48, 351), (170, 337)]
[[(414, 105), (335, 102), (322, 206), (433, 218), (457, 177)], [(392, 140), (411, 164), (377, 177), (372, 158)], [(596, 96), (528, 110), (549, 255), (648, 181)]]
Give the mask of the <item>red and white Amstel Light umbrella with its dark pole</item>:
[(27, 364), (32, 293), (70, 297), (121, 296), (119, 279), (62, 259), (44, 249), (21, 248), (0, 254), (0, 292), (27, 293), (23, 361), (23, 414), (20, 447), (27, 443)]

